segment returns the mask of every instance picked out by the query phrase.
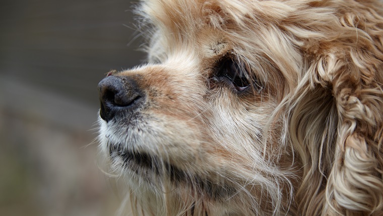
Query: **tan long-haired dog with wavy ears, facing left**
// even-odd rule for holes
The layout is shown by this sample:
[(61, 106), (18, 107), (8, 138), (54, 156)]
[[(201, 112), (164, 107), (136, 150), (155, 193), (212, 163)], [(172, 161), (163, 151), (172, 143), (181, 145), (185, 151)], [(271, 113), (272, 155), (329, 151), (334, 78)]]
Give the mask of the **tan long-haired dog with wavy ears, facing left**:
[(144, 0), (147, 63), (98, 85), (135, 215), (383, 215), (383, 7)]

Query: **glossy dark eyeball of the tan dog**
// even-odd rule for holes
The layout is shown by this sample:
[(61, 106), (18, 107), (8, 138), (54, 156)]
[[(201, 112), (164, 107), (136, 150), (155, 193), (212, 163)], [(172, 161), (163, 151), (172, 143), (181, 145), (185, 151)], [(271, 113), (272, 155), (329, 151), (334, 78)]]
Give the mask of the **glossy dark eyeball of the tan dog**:
[(221, 60), (214, 79), (218, 81), (229, 81), (238, 91), (243, 91), (250, 86), (246, 66), (230, 58)]

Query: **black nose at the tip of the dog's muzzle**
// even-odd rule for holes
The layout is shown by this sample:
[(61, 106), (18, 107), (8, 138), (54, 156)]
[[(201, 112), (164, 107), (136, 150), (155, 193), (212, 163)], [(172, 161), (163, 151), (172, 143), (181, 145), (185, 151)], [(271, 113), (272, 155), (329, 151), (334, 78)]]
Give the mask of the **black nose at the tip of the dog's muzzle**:
[(106, 122), (121, 112), (133, 112), (143, 104), (144, 94), (129, 76), (107, 76), (98, 83), (100, 117)]

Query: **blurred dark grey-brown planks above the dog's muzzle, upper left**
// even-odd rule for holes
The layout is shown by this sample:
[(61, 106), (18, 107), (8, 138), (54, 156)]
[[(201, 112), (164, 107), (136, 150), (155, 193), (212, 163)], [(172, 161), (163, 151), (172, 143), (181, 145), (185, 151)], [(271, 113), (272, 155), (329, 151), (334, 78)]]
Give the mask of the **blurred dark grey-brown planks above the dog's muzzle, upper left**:
[[(110, 69), (138, 65), (132, 3), (125, 0), (3, 0), (0, 74), (98, 105)], [(127, 28), (125, 26), (131, 26)]]

